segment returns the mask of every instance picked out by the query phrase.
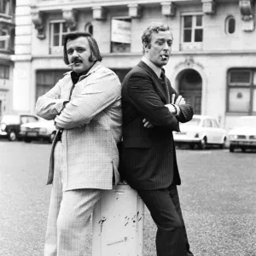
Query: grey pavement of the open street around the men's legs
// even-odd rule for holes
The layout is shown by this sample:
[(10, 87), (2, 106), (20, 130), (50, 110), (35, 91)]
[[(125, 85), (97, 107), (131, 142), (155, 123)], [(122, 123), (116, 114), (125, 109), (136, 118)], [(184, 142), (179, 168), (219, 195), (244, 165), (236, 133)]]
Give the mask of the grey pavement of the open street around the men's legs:
[[(44, 254), (49, 148), (0, 141), (0, 256)], [(178, 191), (195, 256), (256, 256), (255, 153), (177, 149)], [(146, 208), (143, 256), (156, 255), (155, 231)], [(86, 256), (91, 256), (90, 237), (91, 230)]]

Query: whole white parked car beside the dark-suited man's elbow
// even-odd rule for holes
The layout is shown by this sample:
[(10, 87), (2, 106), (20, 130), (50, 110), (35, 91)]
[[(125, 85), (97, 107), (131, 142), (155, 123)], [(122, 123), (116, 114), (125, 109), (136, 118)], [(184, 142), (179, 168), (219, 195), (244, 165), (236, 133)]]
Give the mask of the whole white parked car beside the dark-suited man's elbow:
[(173, 131), (175, 143), (188, 144), (190, 148), (204, 149), (207, 145), (224, 148), (226, 131), (219, 127), (218, 120), (206, 115), (195, 114), (187, 123), (180, 123), (180, 132)]

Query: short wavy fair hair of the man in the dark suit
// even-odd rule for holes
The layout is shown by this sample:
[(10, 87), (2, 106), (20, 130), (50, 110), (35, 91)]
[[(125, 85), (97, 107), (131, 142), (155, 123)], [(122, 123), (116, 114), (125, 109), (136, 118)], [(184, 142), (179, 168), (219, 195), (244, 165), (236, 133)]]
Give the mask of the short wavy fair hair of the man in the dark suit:
[(170, 27), (164, 23), (160, 22), (152, 22), (148, 25), (148, 27), (144, 30), (142, 41), (143, 41), (143, 54), (145, 53), (145, 46), (148, 46), (148, 48), (151, 48), (151, 38), (152, 33), (158, 33), (160, 31), (170, 31)]

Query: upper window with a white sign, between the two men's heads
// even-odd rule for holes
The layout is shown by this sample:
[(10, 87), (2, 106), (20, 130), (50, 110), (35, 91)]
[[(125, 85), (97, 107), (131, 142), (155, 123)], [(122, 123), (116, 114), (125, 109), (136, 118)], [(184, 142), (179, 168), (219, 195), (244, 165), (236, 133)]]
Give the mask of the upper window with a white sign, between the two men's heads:
[(131, 19), (113, 18), (111, 22), (111, 52), (131, 51)]

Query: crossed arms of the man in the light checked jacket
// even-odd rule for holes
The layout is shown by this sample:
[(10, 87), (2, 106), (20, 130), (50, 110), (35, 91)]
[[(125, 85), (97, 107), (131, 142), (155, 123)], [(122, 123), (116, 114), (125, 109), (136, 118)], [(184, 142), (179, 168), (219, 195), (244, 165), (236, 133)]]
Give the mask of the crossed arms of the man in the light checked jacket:
[[(67, 80), (64, 82), (65, 79), (62, 79), (55, 84), (53, 89), (38, 98), (36, 104), (38, 115), (44, 119), (54, 119), (59, 129), (72, 129), (89, 124), (97, 113), (120, 97), (119, 79), (113, 73), (104, 72), (94, 76), (70, 101), (67, 88), (67, 93), (63, 94)], [(81, 83), (84, 83), (83, 80)]]

